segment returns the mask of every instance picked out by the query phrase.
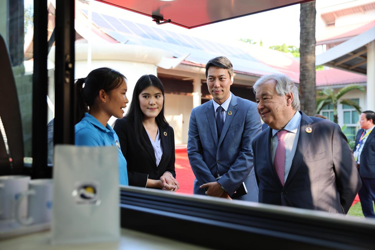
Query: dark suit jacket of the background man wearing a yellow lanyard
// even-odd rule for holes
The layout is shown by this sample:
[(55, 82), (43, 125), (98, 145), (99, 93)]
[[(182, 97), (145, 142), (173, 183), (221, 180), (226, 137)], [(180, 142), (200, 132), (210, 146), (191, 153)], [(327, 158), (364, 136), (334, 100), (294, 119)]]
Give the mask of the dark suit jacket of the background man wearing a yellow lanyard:
[[(356, 145), (354, 145), (353, 150), (356, 150), (362, 132), (363, 129), (358, 130)], [(375, 178), (375, 130), (371, 131), (365, 145), (363, 145), (359, 163), (359, 175), (362, 178)]]

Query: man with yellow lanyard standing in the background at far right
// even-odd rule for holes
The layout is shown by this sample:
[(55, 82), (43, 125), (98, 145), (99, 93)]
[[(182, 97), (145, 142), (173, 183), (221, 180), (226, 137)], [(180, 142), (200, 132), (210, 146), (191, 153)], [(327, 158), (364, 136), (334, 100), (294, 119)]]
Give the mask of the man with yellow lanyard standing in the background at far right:
[(359, 120), (354, 159), (357, 161), (362, 187), (358, 192), (365, 217), (375, 218), (375, 113), (363, 111)]

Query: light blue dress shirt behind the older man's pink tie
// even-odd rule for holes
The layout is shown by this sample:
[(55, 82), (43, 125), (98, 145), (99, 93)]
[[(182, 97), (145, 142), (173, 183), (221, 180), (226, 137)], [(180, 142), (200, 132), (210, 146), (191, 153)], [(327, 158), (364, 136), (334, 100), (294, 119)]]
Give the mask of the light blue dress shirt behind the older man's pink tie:
[[(285, 142), (285, 169), (284, 169), (284, 182), (287, 181), (287, 177), (292, 166), (293, 157), (296, 153), (297, 142), (300, 135), (300, 124), (302, 115), (300, 112), (296, 112), (293, 118), (288, 122), (288, 124), (283, 128), (288, 131), (284, 137)], [(278, 136), (276, 133), (279, 130), (272, 129), (271, 138), (271, 152), (272, 152), (272, 162), (275, 158), (276, 148), (278, 147)]]

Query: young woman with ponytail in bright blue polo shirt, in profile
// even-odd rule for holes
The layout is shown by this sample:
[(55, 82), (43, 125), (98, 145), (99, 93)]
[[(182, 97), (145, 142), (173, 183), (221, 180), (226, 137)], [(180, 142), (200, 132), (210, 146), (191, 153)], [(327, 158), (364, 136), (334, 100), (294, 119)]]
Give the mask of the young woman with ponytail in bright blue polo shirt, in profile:
[(113, 69), (94, 69), (87, 77), (78, 79), (75, 88), (75, 145), (117, 147), (119, 183), (128, 185), (126, 160), (118, 136), (108, 125), (111, 116), (123, 117), (123, 108), (129, 102), (126, 77)]

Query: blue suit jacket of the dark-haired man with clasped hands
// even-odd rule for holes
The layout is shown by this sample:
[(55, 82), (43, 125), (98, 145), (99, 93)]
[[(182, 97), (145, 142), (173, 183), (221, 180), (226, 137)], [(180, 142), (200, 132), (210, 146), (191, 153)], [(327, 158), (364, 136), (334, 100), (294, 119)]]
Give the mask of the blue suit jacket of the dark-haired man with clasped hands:
[(231, 196), (244, 181), (248, 194), (238, 199), (258, 201), (253, 169), (252, 140), (261, 132), (257, 105), (232, 94), (220, 139), (217, 138), (213, 101), (194, 108), (190, 115), (187, 156), (196, 177), (194, 193), (204, 195), (199, 186), (218, 181)]

